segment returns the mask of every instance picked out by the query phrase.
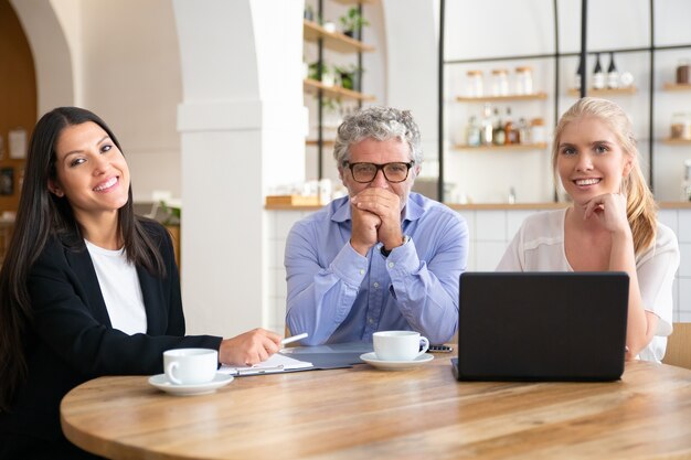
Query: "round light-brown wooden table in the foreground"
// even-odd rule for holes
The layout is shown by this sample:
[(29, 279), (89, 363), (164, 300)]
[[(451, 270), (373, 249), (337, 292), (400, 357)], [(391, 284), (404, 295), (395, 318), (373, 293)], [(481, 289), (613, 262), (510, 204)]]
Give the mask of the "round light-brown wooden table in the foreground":
[(614, 383), (458, 383), (448, 355), (235, 378), (171, 396), (102, 377), (62, 402), (68, 439), (111, 459), (691, 457), (691, 371), (632, 362)]

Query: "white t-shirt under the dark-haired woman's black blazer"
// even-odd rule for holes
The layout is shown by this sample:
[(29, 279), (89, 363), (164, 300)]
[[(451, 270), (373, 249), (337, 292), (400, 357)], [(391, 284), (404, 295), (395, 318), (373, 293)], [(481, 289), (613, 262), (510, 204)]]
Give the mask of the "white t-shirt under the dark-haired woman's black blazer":
[(110, 250), (86, 239), (84, 242), (92, 256), (113, 328), (129, 335), (146, 333), (147, 311), (139, 277), (135, 266), (127, 261), (125, 248)]

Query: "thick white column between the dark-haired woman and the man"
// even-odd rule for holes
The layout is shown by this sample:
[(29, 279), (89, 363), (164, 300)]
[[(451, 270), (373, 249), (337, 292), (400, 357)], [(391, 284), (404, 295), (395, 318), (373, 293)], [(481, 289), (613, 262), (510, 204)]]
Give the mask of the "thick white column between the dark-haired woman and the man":
[(264, 195), (304, 180), (301, 1), (174, 0), (189, 333), (269, 322)]

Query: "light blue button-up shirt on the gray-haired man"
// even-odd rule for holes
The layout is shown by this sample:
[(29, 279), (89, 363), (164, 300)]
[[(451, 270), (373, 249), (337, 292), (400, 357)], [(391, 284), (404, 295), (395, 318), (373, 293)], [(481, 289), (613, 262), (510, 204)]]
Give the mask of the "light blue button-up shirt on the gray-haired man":
[(404, 245), (366, 257), (350, 245), (349, 197), (299, 221), (286, 243), (287, 324), (304, 344), (371, 342), (376, 331), (414, 330), (447, 342), (458, 325), (458, 278), (468, 258), (468, 226), (447, 206), (411, 193)]

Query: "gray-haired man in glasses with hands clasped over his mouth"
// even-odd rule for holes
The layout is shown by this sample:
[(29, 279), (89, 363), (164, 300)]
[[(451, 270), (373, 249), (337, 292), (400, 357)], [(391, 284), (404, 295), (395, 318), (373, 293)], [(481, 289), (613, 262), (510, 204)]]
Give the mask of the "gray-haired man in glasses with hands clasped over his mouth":
[(346, 117), (333, 156), (349, 196), (295, 224), (286, 244), (287, 325), (302, 343), (371, 342), (414, 330), (444, 343), (458, 323), (468, 227), (411, 189), (421, 171), (410, 111), (366, 107)]

